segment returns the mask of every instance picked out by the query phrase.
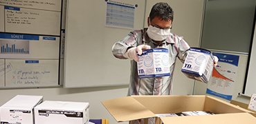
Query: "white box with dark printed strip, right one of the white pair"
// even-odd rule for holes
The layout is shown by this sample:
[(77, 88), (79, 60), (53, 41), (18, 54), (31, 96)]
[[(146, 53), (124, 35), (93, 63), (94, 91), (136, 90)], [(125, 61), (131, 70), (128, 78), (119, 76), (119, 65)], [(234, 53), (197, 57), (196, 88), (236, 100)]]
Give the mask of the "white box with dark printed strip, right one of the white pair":
[(35, 107), (35, 124), (89, 123), (89, 103), (44, 101)]

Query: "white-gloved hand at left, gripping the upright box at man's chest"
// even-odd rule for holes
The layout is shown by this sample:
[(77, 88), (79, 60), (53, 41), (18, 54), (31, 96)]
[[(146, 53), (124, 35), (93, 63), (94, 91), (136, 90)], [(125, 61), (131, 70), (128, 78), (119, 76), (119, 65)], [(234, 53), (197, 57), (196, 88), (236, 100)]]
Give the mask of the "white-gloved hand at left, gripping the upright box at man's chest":
[(138, 54), (142, 54), (143, 50), (149, 50), (151, 47), (149, 45), (138, 45), (134, 48), (129, 48), (127, 52), (125, 52), (125, 56), (127, 56), (129, 59), (134, 59), (134, 61), (138, 61)]

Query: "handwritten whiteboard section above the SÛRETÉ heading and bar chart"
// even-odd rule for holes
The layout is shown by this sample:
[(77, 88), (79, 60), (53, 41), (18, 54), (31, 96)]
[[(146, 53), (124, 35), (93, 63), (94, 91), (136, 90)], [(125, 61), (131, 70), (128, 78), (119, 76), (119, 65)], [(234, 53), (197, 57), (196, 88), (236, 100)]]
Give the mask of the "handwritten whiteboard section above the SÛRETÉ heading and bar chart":
[(5, 6), (5, 14), (6, 32), (60, 34), (60, 28), (53, 28), (60, 27), (60, 12)]

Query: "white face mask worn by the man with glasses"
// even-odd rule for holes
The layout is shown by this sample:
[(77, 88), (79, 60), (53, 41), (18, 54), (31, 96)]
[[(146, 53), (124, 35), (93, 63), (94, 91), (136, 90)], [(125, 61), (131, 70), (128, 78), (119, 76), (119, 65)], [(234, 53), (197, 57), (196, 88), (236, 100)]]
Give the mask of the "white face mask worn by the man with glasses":
[(149, 28), (147, 29), (147, 35), (150, 37), (150, 39), (153, 39), (154, 41), (163, 41), (170, 34), (171, 29), (163, 30), (153, 27), (152, 25), (149, 25)]

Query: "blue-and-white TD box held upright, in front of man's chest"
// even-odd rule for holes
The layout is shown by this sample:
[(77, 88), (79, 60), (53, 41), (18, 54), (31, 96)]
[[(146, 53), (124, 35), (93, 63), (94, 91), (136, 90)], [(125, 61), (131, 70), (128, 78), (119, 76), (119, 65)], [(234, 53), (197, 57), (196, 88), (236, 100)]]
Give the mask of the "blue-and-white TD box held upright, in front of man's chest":
[(154, 48), (143, 50), (138, 55), (138, 78), (170, 76), (169, 53), (167, 49)]

